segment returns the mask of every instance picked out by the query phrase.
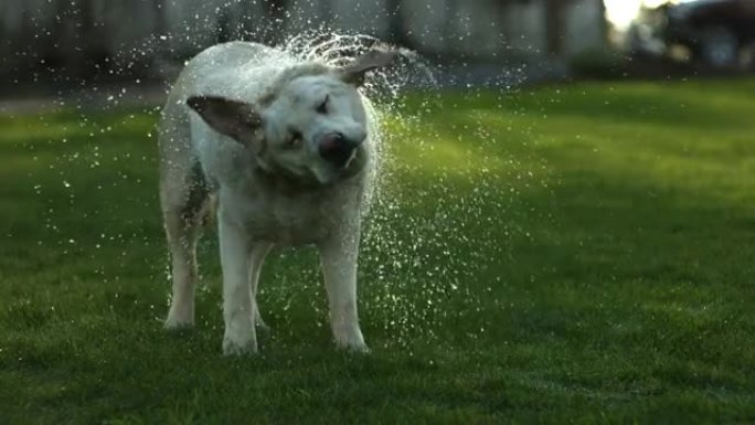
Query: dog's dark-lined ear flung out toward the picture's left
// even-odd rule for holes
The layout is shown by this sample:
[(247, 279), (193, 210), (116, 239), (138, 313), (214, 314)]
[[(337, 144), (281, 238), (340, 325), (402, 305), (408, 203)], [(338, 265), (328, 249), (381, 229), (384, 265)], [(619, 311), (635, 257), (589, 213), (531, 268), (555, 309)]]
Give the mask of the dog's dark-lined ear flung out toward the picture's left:
[(252, 145), (258, 138), (262, 117), (251, 104), (217, 96), (192, 96), (187, 105), (222, 135), (244, 145)]

